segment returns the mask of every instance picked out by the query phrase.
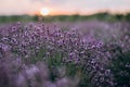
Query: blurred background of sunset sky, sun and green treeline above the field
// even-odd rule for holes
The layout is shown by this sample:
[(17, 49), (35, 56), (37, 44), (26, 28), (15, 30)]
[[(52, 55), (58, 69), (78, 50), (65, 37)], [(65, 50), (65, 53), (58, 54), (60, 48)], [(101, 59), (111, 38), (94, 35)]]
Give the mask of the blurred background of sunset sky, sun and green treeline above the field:
[(0, 23), (55, 21), (129, 21), (130, 0), (0, 0)]

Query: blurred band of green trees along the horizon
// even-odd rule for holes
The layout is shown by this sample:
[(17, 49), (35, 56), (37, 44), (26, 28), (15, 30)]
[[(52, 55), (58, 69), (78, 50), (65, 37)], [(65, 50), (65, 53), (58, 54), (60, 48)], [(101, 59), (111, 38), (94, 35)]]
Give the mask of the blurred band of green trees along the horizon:
[(76, 22), (76, 21), (88, 21), (88, 20), (100, 20), (107, 22), (117, 21), (130, 21), (130, 13), (123, 14), (109, 14), (109, 13), (96, 13), (92, 15), (54, 15), (54, 16), (39, 16), (39, 15), (12, 15), (12, 16), (0, 16), (0, 23), (13, 23), (13, 22), (38, 22), (39, 17), (43, 22)]

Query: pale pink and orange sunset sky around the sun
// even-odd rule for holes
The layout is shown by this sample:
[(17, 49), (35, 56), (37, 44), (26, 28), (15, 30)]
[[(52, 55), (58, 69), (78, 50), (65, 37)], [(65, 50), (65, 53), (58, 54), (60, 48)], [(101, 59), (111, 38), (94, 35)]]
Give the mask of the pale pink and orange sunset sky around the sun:
[(130, 12), (130, 0), (0, 0), (0, 15), (37, 14), (42, 8), (48, 8), (50, 15), (126, 13)]

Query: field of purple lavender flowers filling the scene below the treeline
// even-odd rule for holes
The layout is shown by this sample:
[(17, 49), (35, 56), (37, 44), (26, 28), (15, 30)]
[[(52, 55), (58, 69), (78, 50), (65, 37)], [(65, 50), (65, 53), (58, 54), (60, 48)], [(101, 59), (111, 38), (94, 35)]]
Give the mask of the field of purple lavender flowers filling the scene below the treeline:
[(0, 87), (129, 86), (129, 22), (0, 24)]

